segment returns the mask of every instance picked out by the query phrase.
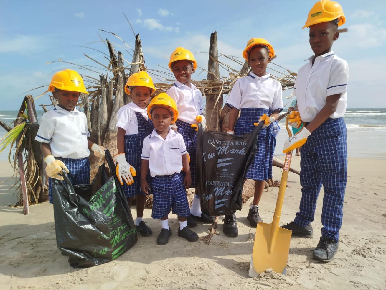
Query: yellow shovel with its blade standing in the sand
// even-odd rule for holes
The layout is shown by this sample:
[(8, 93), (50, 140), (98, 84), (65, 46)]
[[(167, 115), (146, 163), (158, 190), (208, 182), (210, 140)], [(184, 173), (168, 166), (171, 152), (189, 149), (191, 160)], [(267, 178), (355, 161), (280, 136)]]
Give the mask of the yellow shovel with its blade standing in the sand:
[[(288, 135), (292, 136), (292, 133), (288, 128), (288, 116), (286, 118), (286, 128)], [(301, 130), (299, 130), (296, 134), (300, 131)], [(287, 152), (286, 159), (284, 160), (283, 174), (281, 175), (278, 200), (276, 201), (272, 223), (257, 223), (251, 266), (249, 267), (250, 277), (257, 277), (260, 273), (269, 268), (274, 270), (276, 273), (286, 273), (292, 231), (279, 227), (279, 220), (281, 208), (283, 206), (284, 192), (286, 190), (291, 157), (292, 151)]]

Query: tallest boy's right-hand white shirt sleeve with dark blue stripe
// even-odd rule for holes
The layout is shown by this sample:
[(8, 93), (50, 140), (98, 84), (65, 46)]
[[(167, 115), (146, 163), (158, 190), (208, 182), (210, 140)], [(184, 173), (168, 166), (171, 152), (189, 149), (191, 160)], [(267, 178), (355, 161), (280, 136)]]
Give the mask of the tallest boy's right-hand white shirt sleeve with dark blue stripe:
[(344, 94), (349, 80), (349, 66), (347, 62), (338, 59), (331, 65), (330, 80), (327, 86), (326, 96)]

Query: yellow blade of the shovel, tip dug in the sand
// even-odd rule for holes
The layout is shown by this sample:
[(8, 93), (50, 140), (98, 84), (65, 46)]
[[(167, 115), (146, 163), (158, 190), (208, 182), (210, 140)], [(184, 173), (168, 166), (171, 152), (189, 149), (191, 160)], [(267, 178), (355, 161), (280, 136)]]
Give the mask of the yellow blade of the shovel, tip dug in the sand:
[[(257, 277), (269, 268), (276, 273), (285, 274), (292, 231), (279, 226), (276, 226), (276, 229), (274, 227), (272, 223), (257, 223), (249, 267), (250, 277)], [(277, 232), (271, 239), (273, 230)], [(271, 244), (271, 251), (269, 251)]]

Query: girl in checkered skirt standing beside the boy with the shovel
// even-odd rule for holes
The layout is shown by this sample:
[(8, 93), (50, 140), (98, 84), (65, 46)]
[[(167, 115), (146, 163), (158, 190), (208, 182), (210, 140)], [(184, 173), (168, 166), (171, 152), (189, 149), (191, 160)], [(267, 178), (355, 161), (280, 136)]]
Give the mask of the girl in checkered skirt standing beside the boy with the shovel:
[[(249, 62), (251, 72), (239, 78), (229, 94), (227, 104), (232, 109), (227, 133), (250, 133), (257, 120), (264, 120), (264, 126), (257, 136), (256, 155), (246, 176), (256, 181), (253, 203), (247, 216), (251, 226), (256, 228), (257, 222), (261, 221), (258, 209), (264, 182), (272, 178), (272, 159), (276, 145), (273, 123), (283, 110), (283, 100), (280, 82), (266, 72), (268, 63), (275, 55), (272, 45), (263, 38), (252, 38), (247, 42), (242, 55)], [(237, 119), (239, 111), (241, 114)], [(230, 237), (237, 236), (235, 215), (225, 216), (223, 232)]]

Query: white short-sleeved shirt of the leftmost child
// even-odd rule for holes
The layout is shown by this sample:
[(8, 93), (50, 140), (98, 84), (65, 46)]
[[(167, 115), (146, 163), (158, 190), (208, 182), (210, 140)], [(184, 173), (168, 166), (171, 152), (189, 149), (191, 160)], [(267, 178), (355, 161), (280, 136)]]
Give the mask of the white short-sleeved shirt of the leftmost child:
[(87, 137), (85, 113), (55, 106), (43, 114), (35, 140), (48, 143), (54, 157), (81, 159), (90, 156)]

